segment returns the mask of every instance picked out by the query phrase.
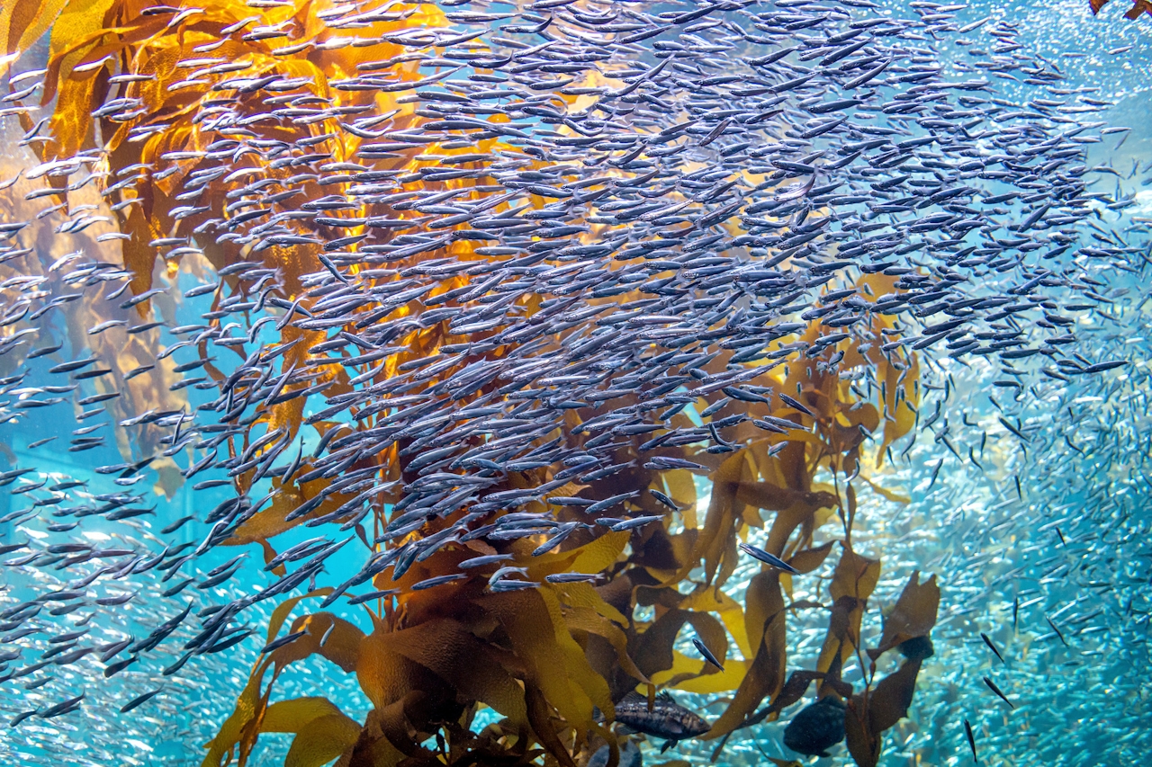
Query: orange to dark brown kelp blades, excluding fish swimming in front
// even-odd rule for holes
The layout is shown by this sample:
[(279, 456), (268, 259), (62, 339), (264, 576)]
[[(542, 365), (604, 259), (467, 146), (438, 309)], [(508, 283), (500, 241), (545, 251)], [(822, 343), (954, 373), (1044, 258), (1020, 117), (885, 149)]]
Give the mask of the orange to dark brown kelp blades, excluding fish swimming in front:
[[(113, 177), (137, 164), (151, 164), (156, 168), (152, 177), (142, 180), (134, 189), (118, 189), (108, 197), (108, 202), (118, 206), (116, 227), (130, 237), (122, 244), (123, 264), (134, 273), (131, 290), (136, 295), (152, 287), (158, 272), (158, 251), (150, 243), (164, 237), (188, 237), (209, 219), (228, 215), (222, 207), (226, 187), (213, 181), (204, 195), (206, 210), (174, 218), (172, 210), (179, 206), (176, 189), (173, 182), (162, 180), (168, 168), (179, 166), (187, 175), (210, 162), (203, 158), (182, 157), (182, 152), (199, 147), (205, 141), (189, 105), (206, 98), (207, 92), (195, 84), (188, 89), (172, 89), (185, 76), (176, 62), (192, 55), (197, 45), (215, 40), (219, 28), (253, 13), (251, 7), (236, 0), (213, 0), (202, 6), (203, 17), (187, 22), (180, 33), (168, 25), (168, 16), (141, 13), (143, 3), (136, 0), (98, 0), (83, 7), (46, 2), (38, 13), (7, 20), (5, 28), (8, 48), (25, 48), (47, 30), (51, 18), (63, 8), (51, 31), (43, 104), (55, 101), (51, 122), (53, 139), (39, 150), (44, 161), (74, 157), (101, 145), (108, 152)], [(372, 33), (446, 23), (442, 13), (433, 6), (403, 8), (402, 20), (372, 22)], [(293, 40), (300, 50), (283, 53), (275, 48), (279, 44), (229, 39), (218, 54), (233, 59), (247, 56), (257, 63), (257, 70), (263, 67), (275, 71), (278, 67), (288, 66), (302, 76), (313, 77), (321, 89), (327, 86), (332, 74), (354, 71), (357, 64), (366, 61), (366, 54), (354, 47), (321, 50), (308, 45), (316, 43), (314, 30), (320, 26), (311, 3), (298, 8), (266, 8), (259, 13), (267, 23), (280, 23), (294, 30)], [(402, 51), (400, 45), (381, 45), (384, 50), (378, 46), (373, 56), (385, 58)], [(146, 116), (119, 122), (93, 117), (92, 107), (103, 101), (109, 78), (123, 71), (150, 76), (147, 81), (129, 84), (126, 91), (149, 107)], [(394, 74), (412, 82), (419, 77), (415, 64), (399, 67)], [(363, 105), (358, 99), (367, 98), (356, 92), (325, 91), (325, 94), (349, 107)], [(238, 99), (238, 105), (242, 114), (249, 117), (257, 117), (264, 108), (256, 99)], [(379, 104), (376, 106), (380, 108)], [(397, 128), (422, 120), (407, 104), (396, 102), (395, 108), (400, 111), (395, 117)], [(323, 121), (282, 130), (285, 141), (316, 139), (336, 159), (350, 158), (356, 150), (347, 143), (347, 134), (339, 139), (325, 137)], [(128, 141), (134, 131), (147, 138)], [(482, 150), (492, 151), (497, 145), (497, 141), (491, 139)], [(441, 151), (452, 153), (455, 150)], [(389, 162), (396, 168), (415, 169), (435, 161), (422, 153), (422, 150), (402, 150), (400, 157)], [(471, 167), (468, 162), (464, 165)], [(161, 180), (157, 181), (158, 176)], [(282, 176), (287, 183), (288, 172)], [(51, 174), (47, 182), (55, 185)], [(473, 179), (437, 183), (450, 189), (475, 182)], [(317, 184), (304, 182), (301, 193), (317, 199), (325, 192)], [(535, 202), (538, 206), (544, 205), (543, 199)], [(363, 213), (391, 214), (393, 211), (370, 208)], [(592, 228), (588, 236), (596, 237), (597, 230)], [(301, 294), (301, 276), (320, 268), (319, 253), (318, 245), (300, 243), (291, 249), (271, 245), (262, 250), (258, 258), (281, 271), (283, 298), (295, 301)], [(464, 260), (484, 258), (476, 255), (470, 244), (457, 242), (414, 258), (408, 265), (418, 263), (419, 258), (439, 256)], [(248, 257), (248, 252), (227, 240), (203, 250), (203, 258), (215, 269), (226, 269)], [(183, 256), (173, 253), (161, 257), (164, 268), (179, 268), (181, 258)], [(226, 279), (225, 282), (240, 289), (235, 281)], [(467, 278), (452, 278), (437, 291), (446, 293), (462, 284), (467, 284)], [(862, 279), (857, 287), (865, 296), (897, 291), (894, 280), (879, 274)], [(217, 305), (223, 299), (222, 293), (221, 288), (215, 296)], [(626, 304), (634, 297), (624, 294), (611, 301)], [(538, 302), (533, 301), (523, 302), (526, 314), (538, 311)], [(309, 303), (302, 305), (306, 309)], [(147, 307), (144, 302), (134, 311), (143, 317)], [(91, 311), (84, 306), (76, 311), (81, 310)], [(417, 306), (401, 310), (416, 311)], [(79, 318), (76, 319), (83, 325)], [(94, 319), (90, 317), (83, 321)], [(203, 764), (205, 767), (227, 764), (243, 767), (262, 734), (289, 732), (295, 738), (286, 764), (294, 767), (318, 766), (333, 758), (338, 758), (340, 767), (521, 765), (541, 753), (559, 765), (571, 767), (591, 744), (601, 743), (608, 745), (607, 764), (614, 767), (619, 760), (619, 741), (609, 727), (611, 712), (614, 701), (631, 690), (639, 689), (650, 699), (659, 688), (730, 691), (726, 711), (703, 736), (722, 744), (740, 728), (775, 719), (785, 706), (803, 696), (812, 681), (818, 681), (821, 696), (848, 699), (849, 750), (857, 764), (874, 765), (881, 734), (903, 715), (911, 699), (919, 661), (907, 661), (899, 671), (859, 692), (840, 679), (844, 662), (854, 655), (861, 656), (863, 616), (881, 567), (879, 559), (854, 549), (851, 533), (866, 506), (857, 496), (858, 487), (867, 484), (887, 498), (896, 498), (881, 491), (865, 472), (873, 466), (879, 469), (887, 448), (914, 428), (915, 408), (919, 401), (919, 367), (916, 356), (909, 352), (880, 354), (881, 341), (895, 333), (890, 320), (874, 313), (863, 328), (851, 337), (824, 345), (812, 358), (794, 360), (782, 367), (765, 365), (763, 370), (753, 370), (748, 385), (789, 398), (749, 403), (750, 418), (730, 432), (737, 446), (733, 451), (721, 457), (698, 446), (684, 446), (660, 447), (645, 454), (647, 457), (687, 460), (703, 466), (712, 486), (706, 510), (696, 508), (696, 489), (688, 471), (631, 469), (589, 486), (571, 487), (569, 492), (590, 500), (635, 493), (631, 503), (636, 509), (664, 515), (664, 524), (597, 536), (582, 531), (543, 556), (532, 556), (541, 540), (518, 540), (500, 549), (479, 541), (446, 547), (415, 563), (395, 582), (386, 574), (376, 576), (376, 588), (395, 587), (399, 593), (365, 605), (363, 615), (367, 630), (326, 612), (308, 612), (311, 601), (329, 595), (331, 590), (317, 590), (282, 602), (267, 626), (267, 640), (272, 643), (286, 623), (290, 633), (303, 633), (295, 641), (265, 654), (253, 666), (235, 711), (207, 744)], [(778, 340), (775, 348), (796, 341), (811, 345), (825, 335), (828, 328), (813, 321), (803, 332)], [(281, 341), (296, 342), (296, 345), (285, 355), (283, 367), (312, 365), (313, 385), (333, 397), (350, 389), (349, 375), (341, 364), (326, 363), (309, 351), (324, 337), (316, 331), (286, 326)], [(378, 379), (400, 374), (406, 364), (431, 356), (455, 340), (448, 334), (446, 322), (409, 333), (403, 339), (403, 349), (382, 360)], [(113, 352), (107, 350), (107, 354)], [(485, 354), (497, 357), (501, 352)], [(865, 397), (826, 366), (821, 369), (821, 359), (835, 354), (843, 355), (844, 367), (871, 367), (874, 379), (882, 386), (874, 395)], [(115, 355), (121, 359), (121, 367), (135, 366), (138, 362), (131, 348), (116, 350)], [(719, 373), (730, 358), (732, 354), (725, 352), (707, 363), (704, 370), (710, 374)], [(464, 362), (475, 359), (461, 364)], [(152, 388), (147, 390), (142, 386), (129, 387), (130, 392), (142, 389), (138, 396), (134, 395), (131, 410), (172, 409), (179, 404), (157, 402), (167, 396), (166, 387), (159, 386), (165, 384), (165, 370), (164, 366), (158, 369), (157, 381), (149, 384)], [(205, 365), (205, 371), (215, 380), (225, 378), (211, 363)], [(493, 388), (490, 385), (487, 390)], [(720, 392), (702, 397), (699, 409), (718, 403), (721, 397)], [(576, 427), (594, 415), (594, 407), (570, 411), (569, 431), (576, 434)], [(765, 430), (757, 426), (756, 419), (765, 417), (785, 419), (794, 427)], [(369, 428), (371, 423), (357, 428)], [(688, 423), (683, 415), (672, 420), (673, 427)], [(252, 430), (272, 433), (282, 428), (289, 439), (295, 439), (305, 427), (325, 433), (338, 426), (323, 419), (305, 424), (302, 400), (291, 400), (263, 408), (259, 417), (250, 422), (249, 432), (240, 439), (229, 439), (226, 449), (233, 457), (244, 454), (258, 433)], [(878, 438), (876, 448), (867, 446), (872, 436)], [(619, 449), (619, 460), (638, 457), (642, 441), (639, 436), (629, 438)], [(149, 447), (142, 445), (139, 449)], [(258, 450), (256, 455), (263, 453)], [(371, 458), (361, 458), (348, 469), (377, 466), (385, 479), (410, 478), (412, 457), (394, 446)], [(271, 507), (245, 522), (227, 544), (258, 546), (265, 561), (271, 561), (275, 556), (276, 536), (339, 511), (349, 496), (333, 493), (308, 514), (293, 518), (296, 509), (319, 498), (332, 481), (301, 479), (308, 476), (309, 469), (305, 461), (291, 479), (274, 480), (276, 494)], [(494, 489), (539, 486), (553, 479), (551, 471), (511, 472), (505, 484)], [(238, 473), (236, 489), (247, 492), (256, 481), (256, 468)], [(670, 496), (681, 510), (670, 511), (659, 506), (643, 492), (650, 488)], [(373, 501), (371, 517), (365, 523), (356, 523), (361, 539), (373, 553), (403, 544), (403, 540), (367, 544), (388, 522), (386, 503), (396, 500), (387, 493), (381, 494)], [(445, 519), (429, 522), (425, 529), (411, 534), (434, 534), (467, 511), (465, 507)], [(778, 570), (763, 568), (751, 579), (743, 603), (740, 603), (723, 587), (740, 561), (737, 542), (750, 529), (759, 527), (767, 530), (765, 549), (803, 575), (783, 576)], [(818, 542), (818, 532), (825, 537), (831, 534), (829, 530), (841, 536), (836, 539), (839, 544), (834, 540)], [(829, 587), (832, 607), (827, 638), (817, 667), (812, 671), (793, 670), (789, 676), (787, 626), (790, 610), (796, 607), (789, 606), (793, 578), (819, 569), (838, 546), (839, 557)], [(539, 587), (491, 593), (484, 588), (483, 577), (468, 577), (437, 588), (412, 588), (430, 578), (457, 572), (460, 562), (468, 557), (498, 552), (511, 555), (511, 564), (525, 568), (525, 578), (539, 583)], [(592, 586), (546, 580), (550, 575), (564, 572), (599, 574), (601, 583)], [(877, 654), (901, 641), (926, 636), (931, 629), (939, 594), (937, 591), (933, 602), (925, 590), (935, 588), (934, 582), (925, 586), (914, 587), (914, 584), (918, 584), (916, 576), (889, 617), (880, 646), (874, 651)], [(652, 620), (637, 620), (637, 607), (653, 608)], [(297, 615), (289, 623), (294, 613)], [(729, 660), (721, 673), (699, 659), (679, 653), (675, 644), (685, 625), (691, 625), (721, 659), (729, 656), (730, 635), (744, 660)], [(373, 706), (364, 722), (355, 722), (334, 703), (320, 697), (273, 700), (276, 678), (285, 668), (310, 655), (329, 661), (332, 674), (355, 675), (356, 683)], [(768, 707), (763, 709), (765, 701)], [(477, 735), (467, 724), (482, 705), (491, 707), (502, 719)], [(599, 720), (597, 712), (607, 721)], [(430, 738), (434, 738), (435, 749), (425, 745)]]

